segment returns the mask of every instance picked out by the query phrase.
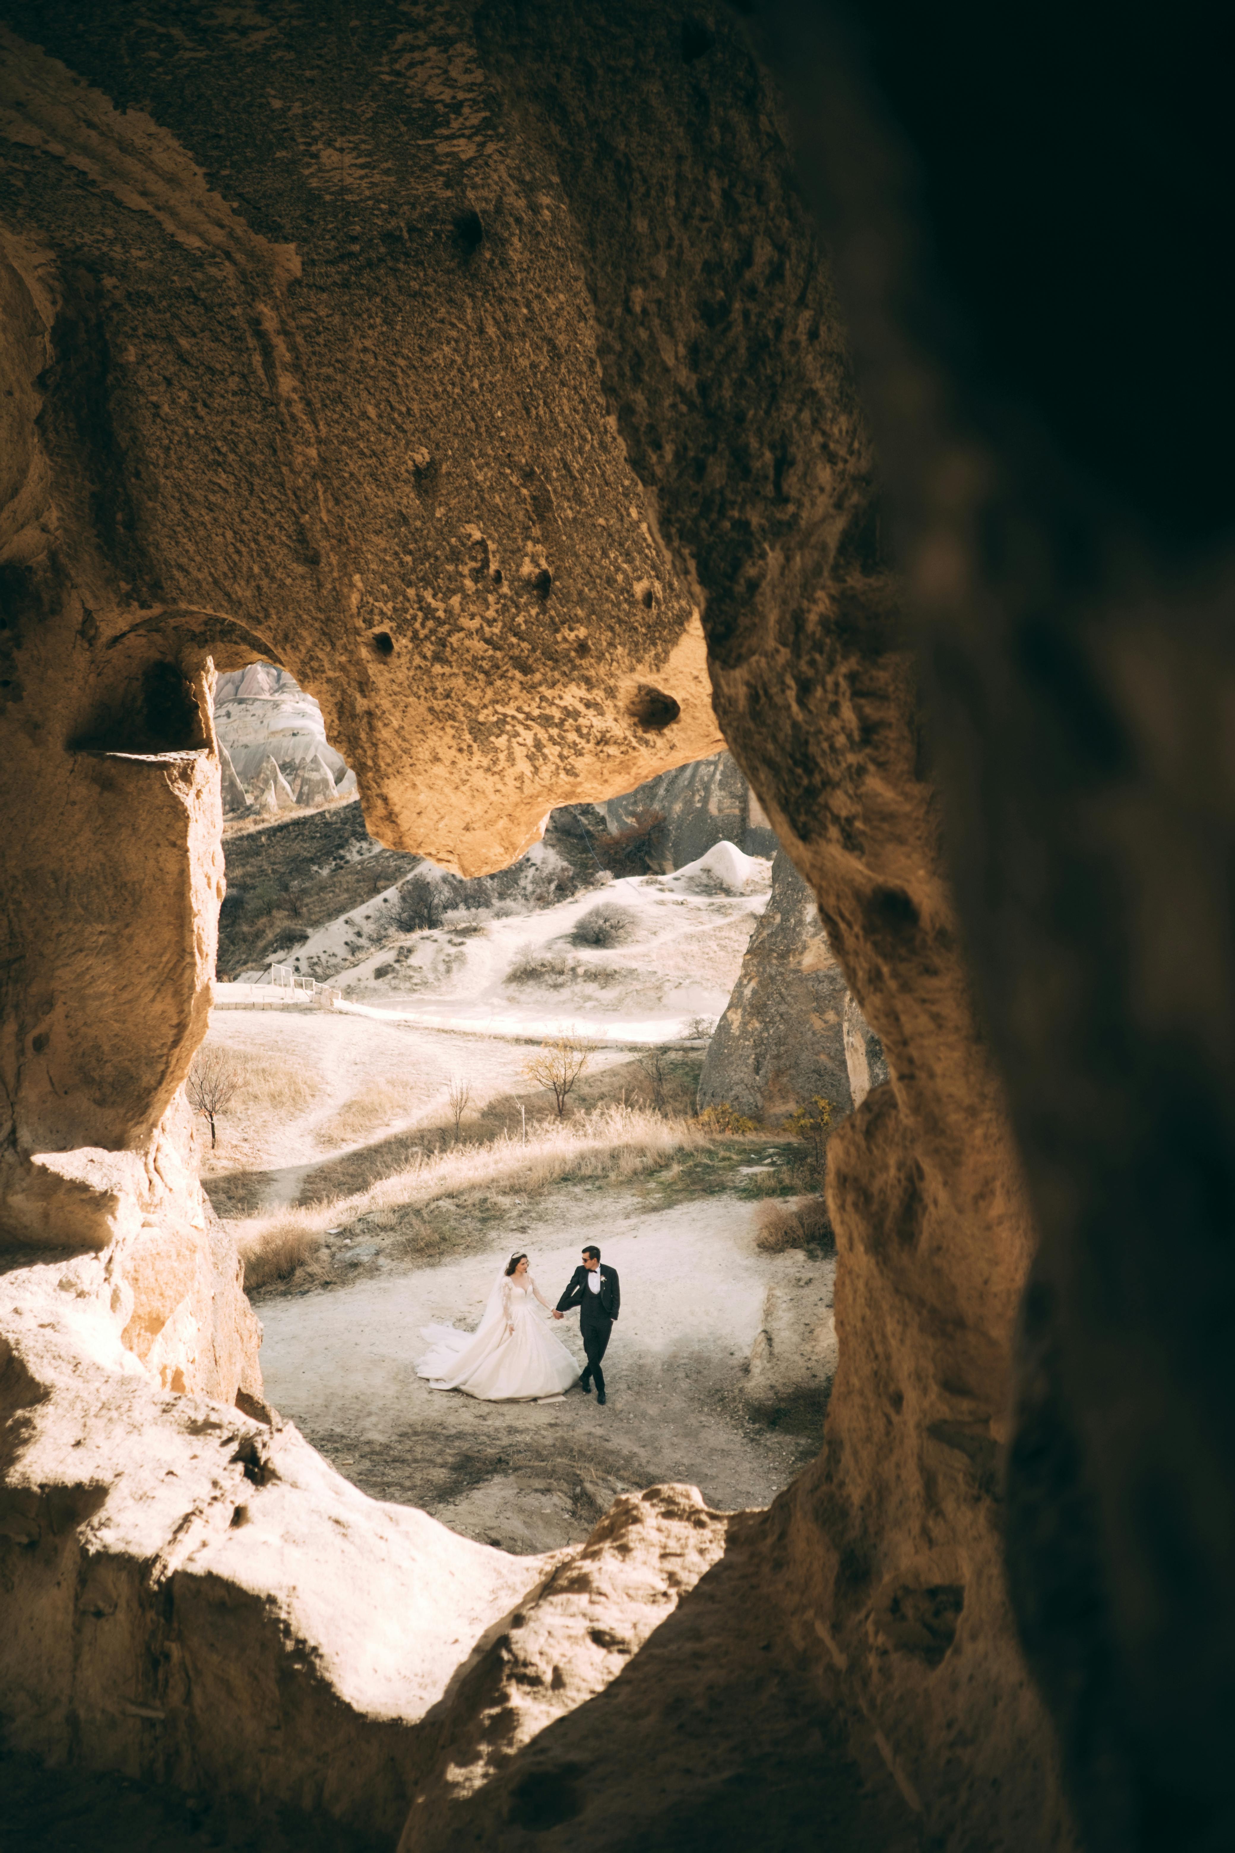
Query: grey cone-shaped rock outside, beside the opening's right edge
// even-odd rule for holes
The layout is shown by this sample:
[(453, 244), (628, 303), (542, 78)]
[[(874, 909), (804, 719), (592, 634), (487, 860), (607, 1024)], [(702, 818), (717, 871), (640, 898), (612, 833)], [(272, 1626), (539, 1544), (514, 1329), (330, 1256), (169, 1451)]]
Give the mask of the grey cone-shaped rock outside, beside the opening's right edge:
[(785, 851), (778, 851), (767, 910), (707, 1045), (700, 1108), (728, 1103), (776, 1125), (798, 1106), (826, 1099), (841, 1119), (854, 1104), (848, 1002), (815, 895)]

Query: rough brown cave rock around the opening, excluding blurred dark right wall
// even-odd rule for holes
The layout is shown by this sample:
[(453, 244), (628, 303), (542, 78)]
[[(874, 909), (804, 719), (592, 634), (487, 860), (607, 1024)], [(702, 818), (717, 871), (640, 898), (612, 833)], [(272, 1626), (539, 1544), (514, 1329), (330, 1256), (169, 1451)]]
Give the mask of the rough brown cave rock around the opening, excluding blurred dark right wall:
[[(846, 341), (742, 30), (593, 4), (0, 11), (4, 1227), (100, 1256), (89, 1319), (52, 1260), (9, 1279), (6, 1319), (48, 1314), (6, 1327), (9, 1490), (69, 1531), (37, 1590), (33, 1558), (20, 1581), (6, 1562), (0, 1590), (63, 1653), (7, 1660), (0, 1710), (37, 1710), (56, 1753), (191, 1779), (130, 1712), (107, 1723), (102, 1686), (70, 1731), (89, 1558), (124, 1597), (115, 1666), (167, 1649), (130, 1705), (170, 1716), (194, 1664), (220, 1694), (311, 1688), (261, 1757), (220, 1699), (213, 1784), (372, 1821), (372, 1566), (407, 1625), (407, 1518), (383, 1534), (293, 1442), (280, 1464), (241, 1434), (218, 1410), (239, 1369), (189, 1371), (196, 1288), (124, 1247), (174, 1236), (191, 1193), (159, 1140), (222, 893), (211, 686), (261, 658), (318, 700), (374, 836), (465, 875), (722, 728), (891, 1071), (831, 1141), (818, 1462), (733, 1527), (689, 1495), (617, 1514), (576, 1586), (546, 1586), (526, 1653), (513, 1618), (507, 1645), (478, 1640), (489, 1597), (517, 1599), (507, 1571), (433, 1532), (430, 1581), (480, 1581), (485, 1603), (400, 1636), (391, 1677), (426, 1707), (450, 1694), (383, 1792), (415, 1796), (405, 1847), (463, 1823), (491, 1846), (676, 1849), (702, 1823), (711, 1846), (789, 1849), (824, 1810), (837, 1849), (1067, 1846), (1002, 1562), (1033, 1234)], [(187, 1469), (207, 1432), (217, 1484)]]

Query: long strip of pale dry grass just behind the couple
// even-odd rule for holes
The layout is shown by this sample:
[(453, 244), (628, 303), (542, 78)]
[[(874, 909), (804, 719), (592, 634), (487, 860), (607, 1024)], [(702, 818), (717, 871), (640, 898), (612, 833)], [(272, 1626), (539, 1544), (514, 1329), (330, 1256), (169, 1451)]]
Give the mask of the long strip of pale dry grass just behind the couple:
[(633, 1179), (655, 1171), (680, 1153), (715, 1141), (691, 1119), (665, 1119), (637, 1106), (602, 1106), (567, 1121), (528, 1128), (528, 1143), (500, 1134), (483, 1145), (413, 1154), (405, 1169), (350, 1195), (294, 1210), (276, 1210), (233, 1223), (250, 1288), (270, 1286), (296, 1271), (326, 1271), (324, 1236), (361, 1216), (367, 1227), (398, 1230), (391, 1251), (407, 1256), (441, 1253), (446, 1236), (431, 1229), (424, 1210), (448, 1203), (467, 1210), (494, 1197), (535, 1197), (565, 1179)]

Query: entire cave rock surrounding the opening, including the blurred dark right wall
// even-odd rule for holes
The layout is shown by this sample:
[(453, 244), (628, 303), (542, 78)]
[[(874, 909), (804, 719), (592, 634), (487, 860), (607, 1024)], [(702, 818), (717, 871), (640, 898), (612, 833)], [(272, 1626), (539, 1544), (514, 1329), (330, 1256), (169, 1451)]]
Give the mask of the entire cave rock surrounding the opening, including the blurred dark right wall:
[[(405, 1849), (1228, 1844), (1216, 61), (1185, 111), (1187, 20), (1118, 83), (959, 9), (872, 9), (861, 72), (776, 4), (0, 20), (7, 1733), (411, 1797)], [(463, 875), (728, 741), (891, 1077), (770, 1512), (663, 1494), (524, 1581), (228, 1406), (176, 1101), (254, 658)]]

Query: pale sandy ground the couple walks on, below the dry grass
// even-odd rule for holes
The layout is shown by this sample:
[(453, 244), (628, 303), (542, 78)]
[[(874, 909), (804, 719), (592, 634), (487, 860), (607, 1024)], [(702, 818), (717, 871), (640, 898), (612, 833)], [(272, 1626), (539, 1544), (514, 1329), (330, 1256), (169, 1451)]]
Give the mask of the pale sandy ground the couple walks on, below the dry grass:
[[(641, 1214), (611, 1186), (570, 1186), (467, 1258), (389, 1267), (356, 1286), (261, 1305), (270, 1403), (365, 1492), (424, 1506), (507, 1551), (587, 1536), (615, 1494), (689, 1481), (709, 1505), (767, 1505), (818, 1449), (817, 1432), (752, 1421), (744, 1366), (767, 1288), (800, 1254), (754, 1245), (752, 1203), (707, 1197)], [(605, 1408), (580, 1390), (541, 1405), (478, 1403), (415, 1375), (418, 1327), (472, 1327), (513, 1247), (555, 1301), (594, 1240), (622, 1280)], [(578, 1316), (555, 1325), (583, 1351)]]

